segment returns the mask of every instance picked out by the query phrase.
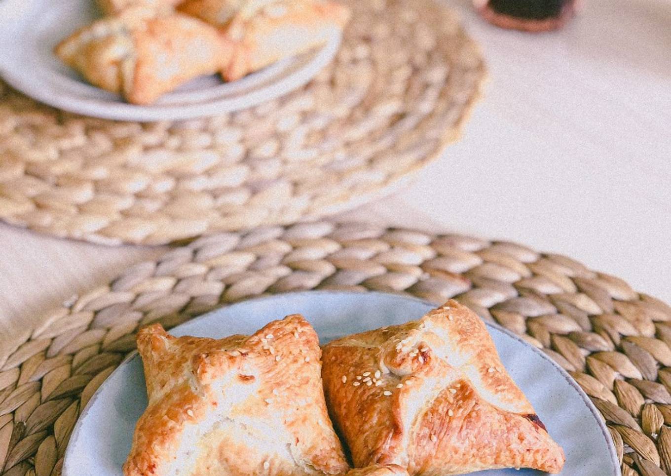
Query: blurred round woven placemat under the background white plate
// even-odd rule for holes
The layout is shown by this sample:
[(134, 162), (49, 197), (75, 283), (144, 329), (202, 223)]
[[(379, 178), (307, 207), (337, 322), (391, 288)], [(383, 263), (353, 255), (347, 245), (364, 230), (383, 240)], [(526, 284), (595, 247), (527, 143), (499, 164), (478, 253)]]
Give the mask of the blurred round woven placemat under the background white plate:
[(455, 140), (484, 78), (432, 0), (344, 0), (336, 60), (258, 107), (188, 122), (82, 117), (0, 81), (0, 219), (93, 242), (164, 244), (290, 224), (375, 196)]

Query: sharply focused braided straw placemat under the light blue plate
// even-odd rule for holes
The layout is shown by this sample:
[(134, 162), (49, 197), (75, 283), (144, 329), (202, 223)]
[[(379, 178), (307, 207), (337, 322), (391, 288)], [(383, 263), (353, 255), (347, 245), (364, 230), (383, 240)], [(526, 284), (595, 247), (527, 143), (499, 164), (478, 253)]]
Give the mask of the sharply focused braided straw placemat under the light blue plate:
[(199, 238), (46, 314), (0, 355), (0, 471), (59, 473), (79, 412), (138, 326), (305, 289), (456, 297), (573, 375), (607, 420), (624, 475), (670, 474), (671, 307), (518, 244), (329, 222)]

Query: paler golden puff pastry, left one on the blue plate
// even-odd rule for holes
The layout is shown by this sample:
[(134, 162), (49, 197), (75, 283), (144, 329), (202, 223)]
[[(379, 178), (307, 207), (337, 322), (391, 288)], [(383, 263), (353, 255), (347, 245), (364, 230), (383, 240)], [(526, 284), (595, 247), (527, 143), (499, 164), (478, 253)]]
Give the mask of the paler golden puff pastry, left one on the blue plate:
[(349, 467), (326, 411), (319, 341), (302, 316), (252, 336), (140, 330), (149, 404), (125, 476), (336, 475)]

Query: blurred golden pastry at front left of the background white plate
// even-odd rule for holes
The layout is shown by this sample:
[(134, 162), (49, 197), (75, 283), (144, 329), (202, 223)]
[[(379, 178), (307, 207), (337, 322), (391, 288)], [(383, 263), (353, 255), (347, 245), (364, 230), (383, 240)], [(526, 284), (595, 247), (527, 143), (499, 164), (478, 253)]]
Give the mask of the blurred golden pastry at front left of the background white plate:
[(162, 94), (228, 64), (231, 50), (215, 28), (181, 13), (134, 7), (104, 17), (56, 46), (56, 54), (89, 81), (149, 104)]

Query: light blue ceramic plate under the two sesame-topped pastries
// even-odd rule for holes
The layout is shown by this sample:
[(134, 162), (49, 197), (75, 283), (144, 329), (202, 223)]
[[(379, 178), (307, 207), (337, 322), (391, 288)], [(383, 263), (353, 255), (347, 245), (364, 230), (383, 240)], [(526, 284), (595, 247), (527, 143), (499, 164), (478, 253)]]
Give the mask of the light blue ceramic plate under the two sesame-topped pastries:
[[(319, 334), (333, 338), (423, 316), (433, 305), (391, 294), (307, 291), (252, 299), (191, 320), (172, 330), (176, 336), (222, 338), (251, 334), (271, 320), (301, 313)], [(620, 474), (615, 448), (597, 410), (560, 367), (509, 332), (488, 324), (501, 360), (515, 382), (564, 448), (563, 475)], [(77, 422), (63, 466), (64, 476), (117, 476), (130, 450), (135, 424), (146, 408), (140, 357), (127, 359), (93, 395)], [(478, 475), (538, 475), (514, 469), (481, 471)]]

